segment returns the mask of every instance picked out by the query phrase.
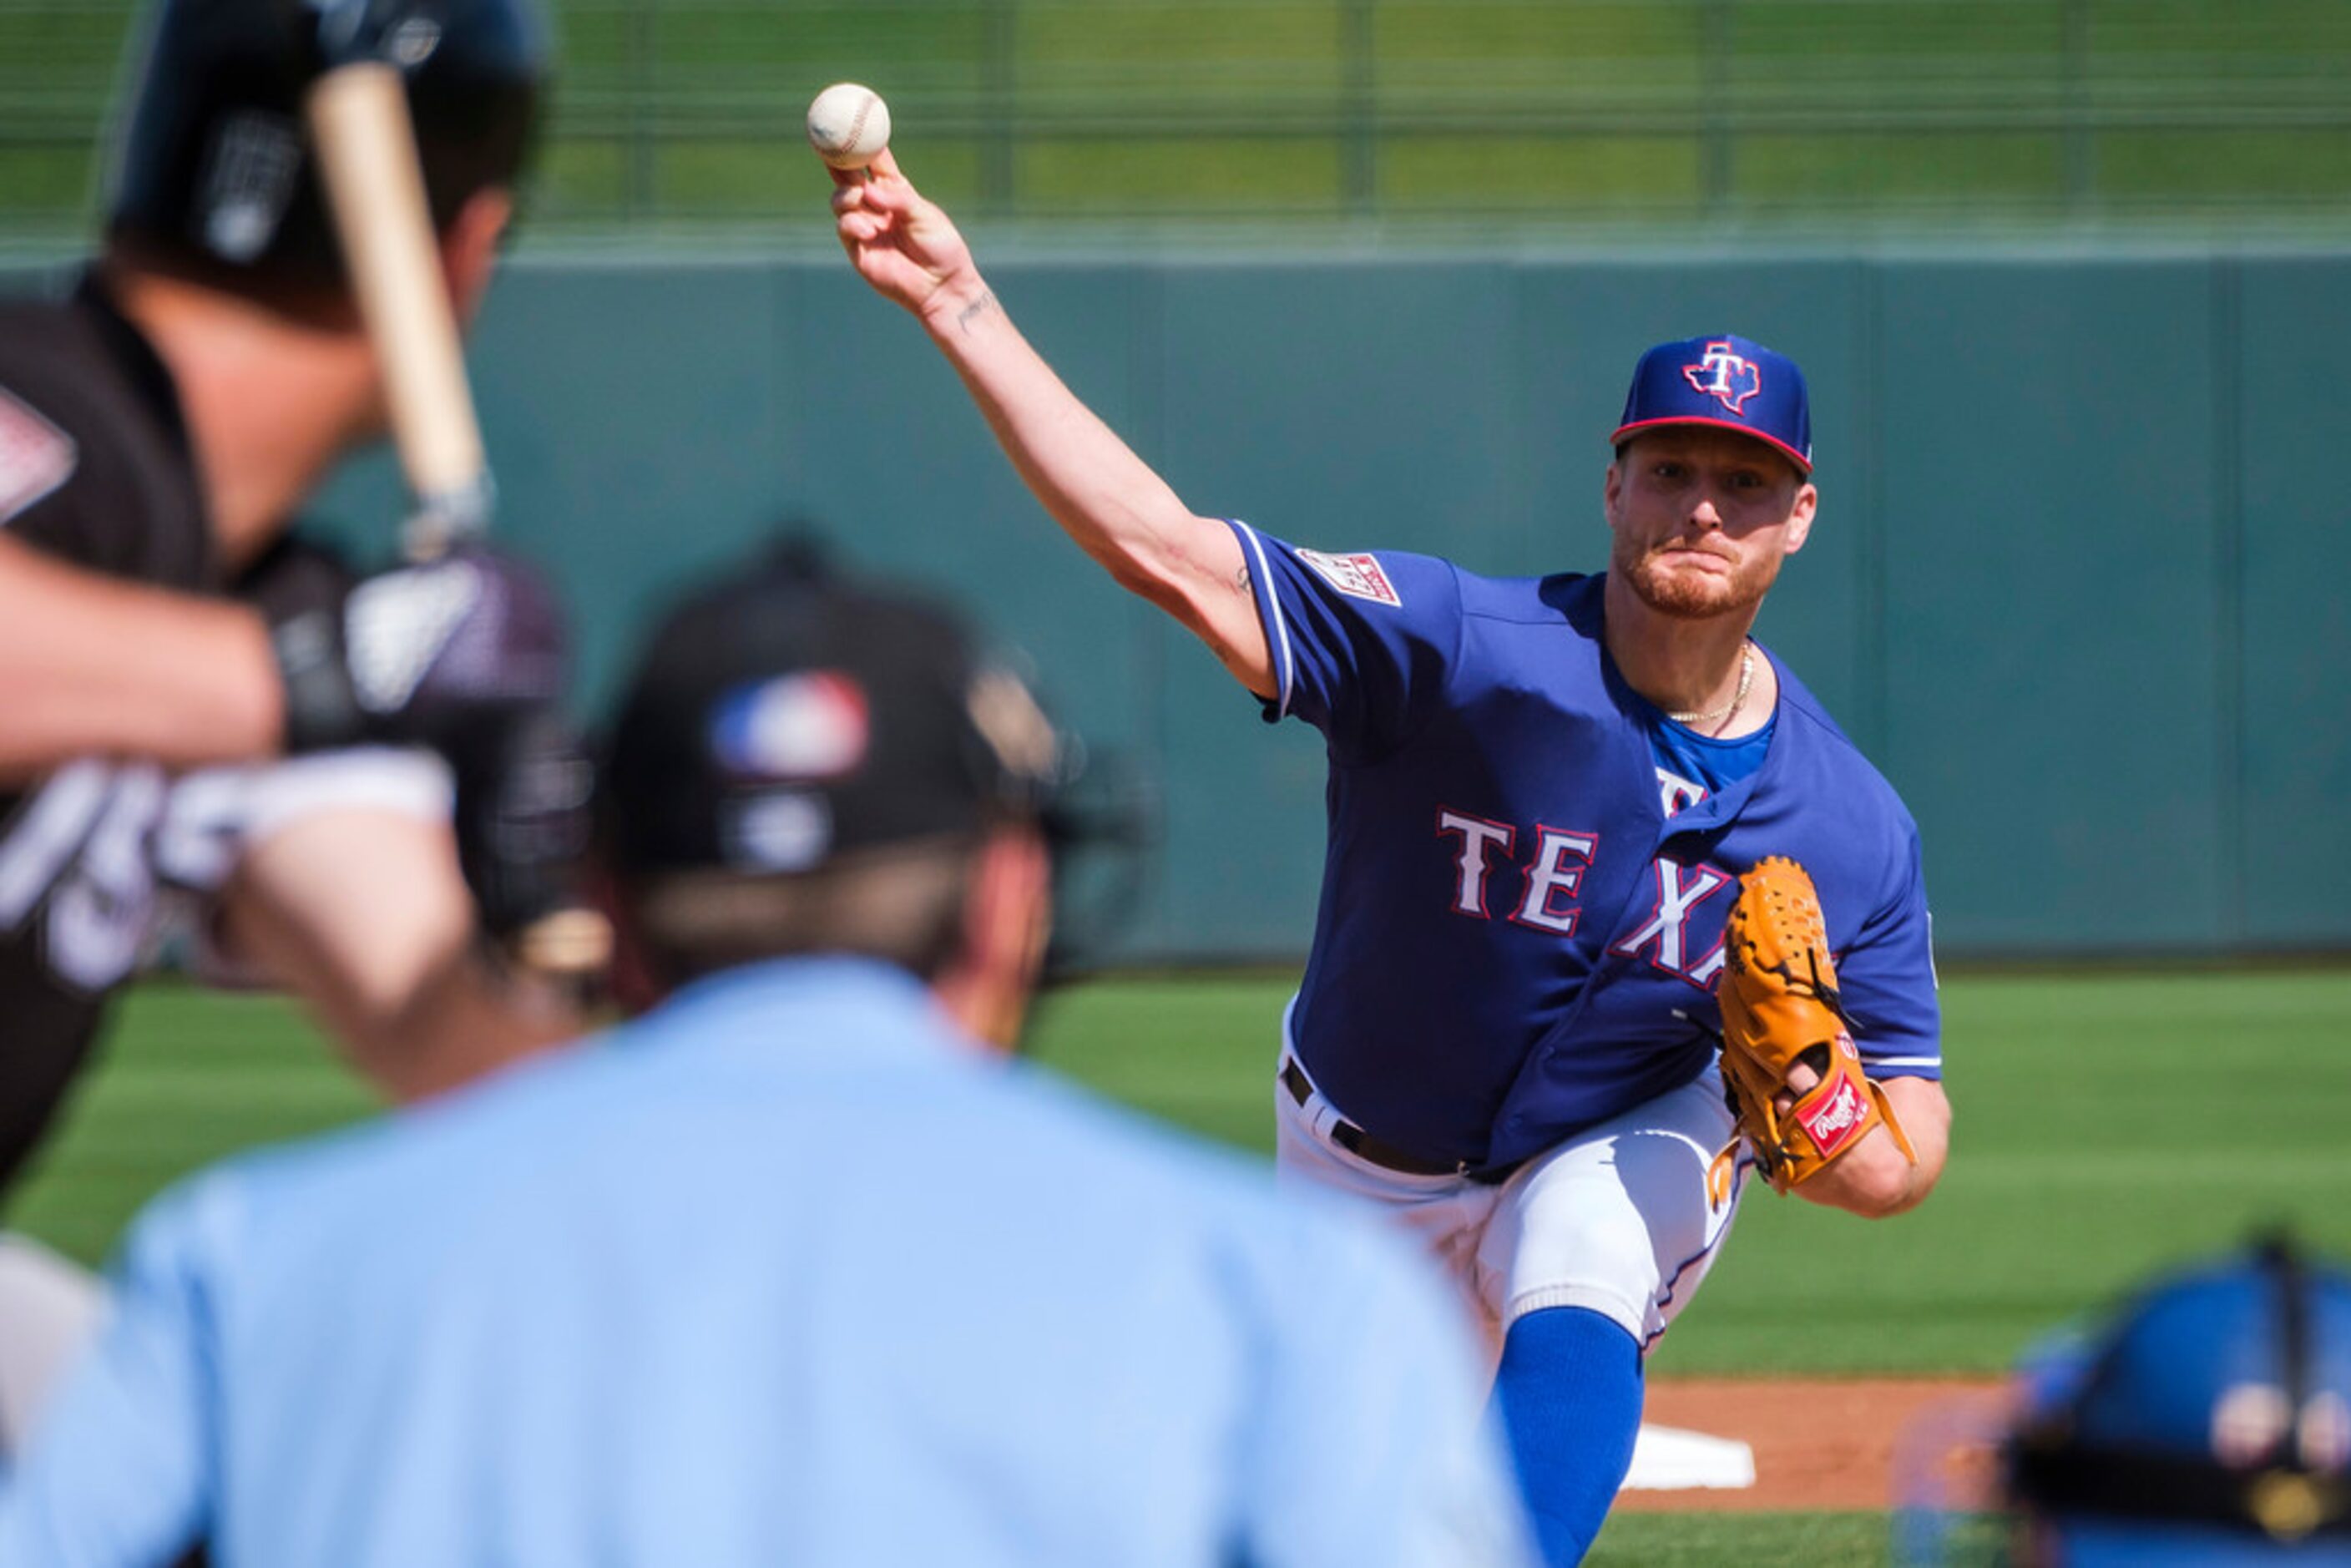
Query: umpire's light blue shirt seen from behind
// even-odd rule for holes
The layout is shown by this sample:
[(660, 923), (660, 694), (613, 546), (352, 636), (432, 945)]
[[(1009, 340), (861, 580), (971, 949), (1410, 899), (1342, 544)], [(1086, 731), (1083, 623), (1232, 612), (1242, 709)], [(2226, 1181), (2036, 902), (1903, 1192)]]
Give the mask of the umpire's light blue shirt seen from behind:
[(1352, 1211), (736, 971), (162, 1197), (0, 1563), (1523, 1563), (1458, 1305)]

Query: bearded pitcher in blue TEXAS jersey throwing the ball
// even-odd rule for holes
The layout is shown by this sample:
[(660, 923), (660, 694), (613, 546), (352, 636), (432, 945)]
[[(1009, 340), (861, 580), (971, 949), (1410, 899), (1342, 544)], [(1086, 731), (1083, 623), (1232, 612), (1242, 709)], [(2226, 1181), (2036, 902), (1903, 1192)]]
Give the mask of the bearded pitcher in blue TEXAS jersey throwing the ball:
[(1310, 550), (1194, 515), (1023, 341), (889, 153), (835, 186), (849, 259), (924, 324), (1053, 520), (1267, 719), (1324, 733), (1279, 1161), (1385, 1204), (1453, 1267), (1542, 1547), (1578, 1561), (1632, 1462), (1641, 1359), (1742, 1175), (1888, 1215), (1949, 1140), (1916, 827), (1749, 637), (1820, 505), (1801, 371), (1730, 334), (1641, 357), (1606, 574)]

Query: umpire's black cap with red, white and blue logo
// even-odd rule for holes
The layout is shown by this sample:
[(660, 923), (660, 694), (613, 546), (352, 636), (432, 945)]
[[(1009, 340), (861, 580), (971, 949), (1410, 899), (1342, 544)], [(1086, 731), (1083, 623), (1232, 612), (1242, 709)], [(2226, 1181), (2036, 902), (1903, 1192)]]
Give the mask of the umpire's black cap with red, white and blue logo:
[(600, 837), (623, 884), (802, 875), (1041, 820), (1060, 764), (955, 616), (790, 543), (654, 632), (607, 736)]

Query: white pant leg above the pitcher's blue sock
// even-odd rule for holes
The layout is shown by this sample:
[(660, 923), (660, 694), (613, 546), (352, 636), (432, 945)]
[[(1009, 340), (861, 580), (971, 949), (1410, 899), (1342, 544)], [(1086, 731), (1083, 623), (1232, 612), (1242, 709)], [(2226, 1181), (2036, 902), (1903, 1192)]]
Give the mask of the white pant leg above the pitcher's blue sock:
[(1512, 1175), (1476, 1258), (1500, 1331), (1542, 1307), (1585, 1307), (1643, 1352), (1655, 1345), (1730, 1234), (1740, 1182), (1723, 1204), (1707, 1199), (1707, 1166), (1726, 1143), (1730, 1107), (1709, 1067)]

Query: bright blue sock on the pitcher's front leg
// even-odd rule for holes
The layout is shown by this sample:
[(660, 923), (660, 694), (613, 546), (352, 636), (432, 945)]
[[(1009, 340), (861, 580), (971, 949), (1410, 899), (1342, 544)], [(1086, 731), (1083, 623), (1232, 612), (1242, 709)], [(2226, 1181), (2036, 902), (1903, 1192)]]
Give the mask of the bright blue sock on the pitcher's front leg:
[(1549, 1568), (1580, 1563), (1608, 1519), (1641, 1432), (1641, 1347), (1582, 1307), (1509, 1326), (1493, 1399)]

